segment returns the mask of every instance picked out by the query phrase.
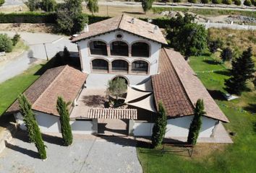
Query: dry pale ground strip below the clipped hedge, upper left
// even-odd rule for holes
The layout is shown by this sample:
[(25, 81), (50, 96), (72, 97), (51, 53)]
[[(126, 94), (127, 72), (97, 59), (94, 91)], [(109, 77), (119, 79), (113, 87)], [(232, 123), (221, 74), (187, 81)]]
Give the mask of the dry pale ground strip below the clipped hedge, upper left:
[(45, 32), (52, 33), (56, 26), (54, 24), (29, 24), (29, 23), (21, 23), (21, 24), (0, 24), (1, 31), (14, 31), (14, 32)]

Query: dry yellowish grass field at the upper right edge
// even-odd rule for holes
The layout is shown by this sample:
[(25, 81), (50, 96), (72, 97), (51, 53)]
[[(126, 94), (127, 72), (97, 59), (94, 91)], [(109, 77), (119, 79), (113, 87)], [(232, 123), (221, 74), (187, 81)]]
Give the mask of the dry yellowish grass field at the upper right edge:
[(253, 30), (231, 30), (210, 28), (208, 33), (211, 38), (220, 38), (224, 45), (230, 46), (237, 53), (252, 46), (253, 55), (256, 56), (256, 31)]

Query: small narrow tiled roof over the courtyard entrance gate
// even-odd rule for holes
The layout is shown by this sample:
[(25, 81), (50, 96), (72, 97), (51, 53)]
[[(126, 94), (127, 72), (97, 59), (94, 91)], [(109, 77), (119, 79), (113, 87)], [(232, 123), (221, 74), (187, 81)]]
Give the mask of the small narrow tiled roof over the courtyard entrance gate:
[(90, 109), (88, 118), (137, 120), (137, 109)]

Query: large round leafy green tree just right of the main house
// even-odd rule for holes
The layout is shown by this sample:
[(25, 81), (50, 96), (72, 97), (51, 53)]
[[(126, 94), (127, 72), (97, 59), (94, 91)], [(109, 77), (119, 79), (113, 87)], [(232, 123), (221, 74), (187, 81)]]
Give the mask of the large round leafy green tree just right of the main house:
[(184, 17), (177, 14), (176, 19), (170, 19), (167, 30), (171, 47), (187, 58), (200, 55), (207, 47), (207, 30), (194, 21), (195, 17), (191, 14), (185, 14)]

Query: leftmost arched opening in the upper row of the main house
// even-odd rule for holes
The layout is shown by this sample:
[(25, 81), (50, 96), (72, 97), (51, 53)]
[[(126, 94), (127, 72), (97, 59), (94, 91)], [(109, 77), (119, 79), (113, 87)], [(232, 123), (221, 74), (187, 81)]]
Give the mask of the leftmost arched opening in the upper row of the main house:
[(90, 54), (98, 56), (107, 56), (106, 43), (102, 41), (93, 41), (90, 43)]

